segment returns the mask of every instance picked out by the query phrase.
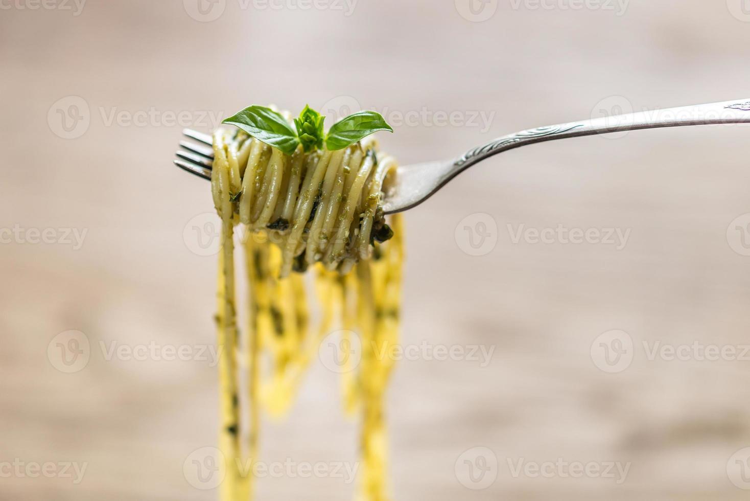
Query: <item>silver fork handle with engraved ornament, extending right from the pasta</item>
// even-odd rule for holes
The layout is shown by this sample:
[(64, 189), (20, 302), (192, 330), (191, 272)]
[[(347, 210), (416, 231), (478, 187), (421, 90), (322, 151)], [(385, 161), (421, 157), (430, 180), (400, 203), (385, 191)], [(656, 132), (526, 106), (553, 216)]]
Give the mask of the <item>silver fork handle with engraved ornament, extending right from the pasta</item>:
[[(591, 120), (571, 121), (567, 124), (548, 125), (502, 136), (487, 144), (466, 151), (455, 161), (452, 175), (481, 162), (493, 154), (535, 142), (591, 136), (625, 130), (682, 127), (684, 125), (745, 124), (750, 123), (750, 99), (697, 106), (665, 108), (625, 115), (605, 116)], [(451, 177), (452, 177), (451, 175)]]

